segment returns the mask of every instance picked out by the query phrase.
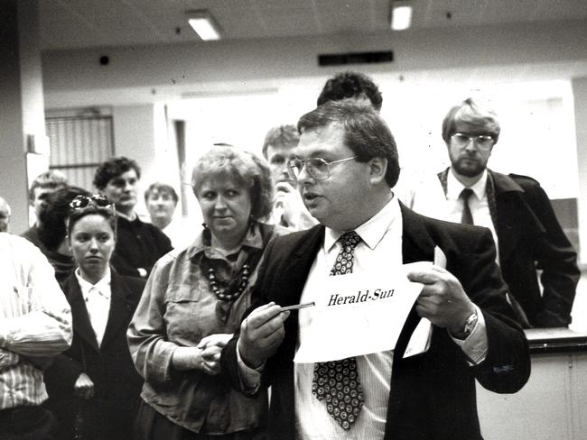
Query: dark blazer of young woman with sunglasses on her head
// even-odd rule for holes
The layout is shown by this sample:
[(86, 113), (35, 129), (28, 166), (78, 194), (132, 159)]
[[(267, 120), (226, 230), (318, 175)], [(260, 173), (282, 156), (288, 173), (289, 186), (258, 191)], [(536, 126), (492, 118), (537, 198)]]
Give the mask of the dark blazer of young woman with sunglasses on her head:
[[(75, 274), (61, 286), (71, 307), (73, 341), (45, 372), (45, 382), (50, 408), (57, 413), (63, 438), (72, 434), (78, 414), (83, 432), (87, 433), (84, 439), (131, 438), (143, 379), (130, 357), (126, 329), (143, 293), (144, 280), (119, 275), (115, 270), (111, 273), (110, 313), (100, 347)], [(94, 397), (85, 401), (73, 395), (73, 386), (82, 372), (94, 382)]]

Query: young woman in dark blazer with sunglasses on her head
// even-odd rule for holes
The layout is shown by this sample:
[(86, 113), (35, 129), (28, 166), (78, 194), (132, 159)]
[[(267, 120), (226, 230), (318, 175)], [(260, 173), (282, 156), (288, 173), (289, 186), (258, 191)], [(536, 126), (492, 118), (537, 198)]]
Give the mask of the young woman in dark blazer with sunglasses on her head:
[(59, 438), (128, 440), (143, 380), (128, 351), (126, 328), (144, 280), (110, 267), (116, 211), (106, 198), (73, 199), (67, 230), (78, 266), (61, 286), (73, 316), (73, 342), (48, 371)]

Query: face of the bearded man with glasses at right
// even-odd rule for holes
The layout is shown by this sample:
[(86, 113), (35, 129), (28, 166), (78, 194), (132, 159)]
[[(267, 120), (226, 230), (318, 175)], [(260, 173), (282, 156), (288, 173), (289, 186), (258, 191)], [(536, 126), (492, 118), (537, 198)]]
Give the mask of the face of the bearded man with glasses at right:
[[(486, 134), (487, 131), (480, 130), (479, 127), (473, 128), (470, 124), (457, 123), (455, 133), (464, 133), (469, 135)], [(487, 162), (491, 156), (489, 150), (480, 149), (475, 142), (469, 142), (464, 147), (457, 145), (456, 142), (449, 139), (446, 146), (448, 147), (449, 157), (451, 158), (452, 169), (461, 176), (474, 178), (479, 176), (487, 168)]]

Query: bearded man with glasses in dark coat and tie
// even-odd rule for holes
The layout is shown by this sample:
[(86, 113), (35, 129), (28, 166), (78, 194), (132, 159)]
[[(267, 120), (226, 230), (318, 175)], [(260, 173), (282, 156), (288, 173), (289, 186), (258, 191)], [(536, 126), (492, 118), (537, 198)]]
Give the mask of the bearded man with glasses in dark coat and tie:
[[(554, 215), (545, 190), (535, 180), (489, 170), (498, 142), (497, 115), (466, 99), (443, 121), (443, 140), (451, 167), (439, 174), (447, 198), (448, 219), (460, 221), (463, 188), (474, 225), (489, 227), (498, 243), (498, 264), (510, 300), (525, 326), (556, 327), (571, 323), (580, 270), (577, 254)], [(541, 292), (536, 276), (541, 270)]]

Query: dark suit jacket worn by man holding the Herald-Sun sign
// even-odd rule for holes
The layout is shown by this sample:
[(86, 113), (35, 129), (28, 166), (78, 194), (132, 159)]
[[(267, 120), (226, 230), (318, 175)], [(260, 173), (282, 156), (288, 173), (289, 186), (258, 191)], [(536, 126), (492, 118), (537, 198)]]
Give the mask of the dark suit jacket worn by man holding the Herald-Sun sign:
[[(404, 262), (433, 261), (434, 246), (440, 246), (447, 257), (447, 270), (461, 280), (483, 312), (489, 351), (484, 362), (470, 367), (447, 331), (434, 328), (428, 352), (403, 359), (420, 320), (413, 308), (394, 352), (385, 438), (480, 439), (475, 379), (488, 390), (511, 393), (522, 388), (530, 373), (526, 337), (508, 306), (491, 234), (477, 226), (449, 224), (417, 215), (405, 206), (402, 215)], [(269, 244), (254, 291), (256, 305), (268, 301), (281, 306), (299, 302), (323, 236), (324, 228), (319, 225), (278, 237)], [(293, 355), (297, 328), (294, 312), (285, 321), (283, 344), (267, 360), (263, 371), (264, 384), (272, 386), (268, 426), (271, 439), (294, 438)], [(238, 336), (225, 347), (221, 363), (238, 389), (237, 340)]]

